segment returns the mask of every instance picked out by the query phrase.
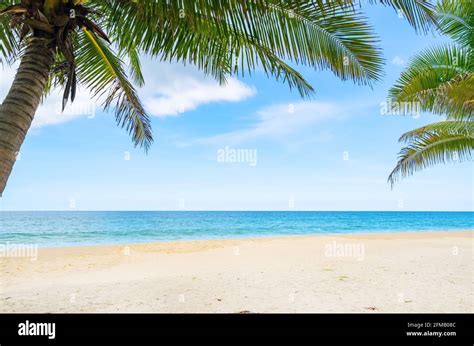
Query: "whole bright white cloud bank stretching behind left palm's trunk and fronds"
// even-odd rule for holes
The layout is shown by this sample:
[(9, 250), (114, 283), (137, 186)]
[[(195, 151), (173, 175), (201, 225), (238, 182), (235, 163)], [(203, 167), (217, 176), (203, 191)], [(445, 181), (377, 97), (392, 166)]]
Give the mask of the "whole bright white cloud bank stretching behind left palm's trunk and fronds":
[[(18, 65), (4, 66), (0, 78), (0, 98), (6, 96)], [(145, 86), (139, 90), (144, 106), (152, 116), (177, 116), (215, 102), (238, 102), (255, 95), (256, 90), (235, 78), (219, 85), (192, 66), (160, 63), (144, 59)], [(39, 107), (32, 127), (56, 125), (80, 117), (93, 118), (101, 110), (101, 102), (94, 102), (87, 90), (78, 90), (76, 100), (61, 112), (62, 91), (52, 92)]]

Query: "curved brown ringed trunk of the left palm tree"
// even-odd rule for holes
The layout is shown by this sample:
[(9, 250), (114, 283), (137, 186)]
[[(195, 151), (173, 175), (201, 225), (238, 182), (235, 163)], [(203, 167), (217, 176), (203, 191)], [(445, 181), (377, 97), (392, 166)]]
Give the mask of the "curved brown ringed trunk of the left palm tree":
[(48, 40), (33, 38), (0, 105), (0, 196), (44, 93), (53, 64)]

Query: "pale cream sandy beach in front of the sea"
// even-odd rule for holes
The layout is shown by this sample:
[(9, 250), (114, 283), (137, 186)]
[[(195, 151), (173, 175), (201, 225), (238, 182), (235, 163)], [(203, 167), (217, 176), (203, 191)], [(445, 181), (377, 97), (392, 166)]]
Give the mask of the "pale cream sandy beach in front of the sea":
[(39, 249), (0, 312), (473, 312), (473, 232)]

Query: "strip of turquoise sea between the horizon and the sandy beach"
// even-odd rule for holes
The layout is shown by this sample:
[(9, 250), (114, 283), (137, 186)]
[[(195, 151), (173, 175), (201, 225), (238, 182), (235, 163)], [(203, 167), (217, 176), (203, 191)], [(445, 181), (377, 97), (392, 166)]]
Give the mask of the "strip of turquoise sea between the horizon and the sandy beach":
[(39, 246), (460, 229), (473, 212), (0, 212), (0, 244)]

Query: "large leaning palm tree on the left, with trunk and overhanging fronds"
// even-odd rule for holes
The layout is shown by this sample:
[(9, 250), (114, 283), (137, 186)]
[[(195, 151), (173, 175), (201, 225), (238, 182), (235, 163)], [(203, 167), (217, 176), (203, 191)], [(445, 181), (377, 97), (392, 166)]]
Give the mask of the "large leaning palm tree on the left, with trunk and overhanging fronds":
[[(0, 0), (0, 59), (20, 61), (0, 106), (0, 195), (38, 105), (55, 87), (64, 90), (64, 108), (76, 85), (85, 86), (135, 145), (149, 148), (150, 120), (135, 89), (144, 83), (140, 53), (194, 64), (221, 83), (261, 68), (304, 97), (314, 90), (290, 64), (360, 84), (382, 74), (356, 0), (18, 1)], [(417, 30), (434, 23), (429, 0), (381, 2)]]

